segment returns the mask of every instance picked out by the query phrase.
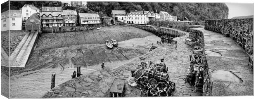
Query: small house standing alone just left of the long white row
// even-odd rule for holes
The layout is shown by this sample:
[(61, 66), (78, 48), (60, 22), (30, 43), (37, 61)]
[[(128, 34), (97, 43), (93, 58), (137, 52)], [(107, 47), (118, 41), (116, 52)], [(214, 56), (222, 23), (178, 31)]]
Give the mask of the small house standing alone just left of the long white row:
[(125, 22), (126, 20), (126, 10), (112, 10), (111, 16), (115, 18), (115, 20)]

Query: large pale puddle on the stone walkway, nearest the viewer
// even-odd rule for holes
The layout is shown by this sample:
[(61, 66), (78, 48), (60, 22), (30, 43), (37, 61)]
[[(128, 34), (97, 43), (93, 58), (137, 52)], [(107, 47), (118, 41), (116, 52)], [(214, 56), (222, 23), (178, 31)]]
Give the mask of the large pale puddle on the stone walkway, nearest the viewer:
[(243, 80), (239, 78), (237, 75), (230, 71), (224, 71), (224, 70), (209, 70), (211, 73), (212, 80), (223, 80), (223, 81), (229, 81), (229, 82), (235, 82), (235, 83), (242, 83)]

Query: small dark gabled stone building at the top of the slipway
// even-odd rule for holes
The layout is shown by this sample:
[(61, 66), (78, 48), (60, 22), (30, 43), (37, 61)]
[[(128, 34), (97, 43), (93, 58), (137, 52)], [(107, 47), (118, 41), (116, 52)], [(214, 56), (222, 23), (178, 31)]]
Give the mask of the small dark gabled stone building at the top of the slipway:
[(25, 23), (27, 32), (41, 32), (40, 17), (38, 14), (32, 14)]

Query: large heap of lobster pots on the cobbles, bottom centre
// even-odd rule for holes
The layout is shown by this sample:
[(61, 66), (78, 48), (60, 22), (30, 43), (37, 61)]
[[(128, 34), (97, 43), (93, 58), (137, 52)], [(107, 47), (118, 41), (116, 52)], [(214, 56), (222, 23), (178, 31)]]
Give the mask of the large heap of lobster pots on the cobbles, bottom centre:
[(137, 84), (140, 85), (141, 96), (171, 96), (171, 92), (175, 90), (175, 83), (169, 80), (167, 72), (164, 59), (161, 59), (160, 64), (142, 62), (134, 73)]

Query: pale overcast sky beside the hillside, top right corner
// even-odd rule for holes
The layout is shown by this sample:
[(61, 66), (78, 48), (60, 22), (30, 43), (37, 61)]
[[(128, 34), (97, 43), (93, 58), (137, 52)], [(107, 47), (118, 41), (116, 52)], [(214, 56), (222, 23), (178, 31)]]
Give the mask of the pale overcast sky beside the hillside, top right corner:
[(235, 16), (254, 15), (253, 3), (226, 3), (228, 6), (228, 19)]

